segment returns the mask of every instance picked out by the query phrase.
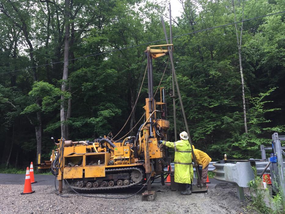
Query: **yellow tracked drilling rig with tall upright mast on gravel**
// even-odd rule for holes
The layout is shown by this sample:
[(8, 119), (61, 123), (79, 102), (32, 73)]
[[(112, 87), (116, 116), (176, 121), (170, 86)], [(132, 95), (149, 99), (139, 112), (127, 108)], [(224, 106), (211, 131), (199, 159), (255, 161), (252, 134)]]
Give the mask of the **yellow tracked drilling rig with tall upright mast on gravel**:
[[(164, 50), (163, 47), (167, 47)], [(91, 141), (65, 140), (56, 145), (57, 155), (52, 155), (51, 169), (57, 174), (59, 191), (63, 180), (75, 190), (112, 190), (145, 184), (148, 191), (143, 197), (155, 197), (151, 191), (151, 181), (161, 177), (163, 168), (170, 164), (167, 150), (159, 145), (166, 140), (169, 121), (165, 120), (165, 90), (160, 88), (160, 101), (153, 95), (152, 59), (169, 55), (172, 44), (148, 46), (145, 54), (148, 64), (148, 98), (145, 99), (145, 118), (136, 136), (128, 136), (122, 141), (110, 137)], [(158, 107), (158, 109), (157, 109)]]

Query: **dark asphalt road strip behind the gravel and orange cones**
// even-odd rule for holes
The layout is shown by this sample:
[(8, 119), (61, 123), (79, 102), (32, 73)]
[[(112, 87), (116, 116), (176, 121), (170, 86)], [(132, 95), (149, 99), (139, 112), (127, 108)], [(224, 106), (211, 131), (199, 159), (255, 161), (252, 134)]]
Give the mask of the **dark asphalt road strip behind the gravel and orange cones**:
[[(160, 179), (157, 179), (159, 181)], [(210, 184), (208, 186), (215, 186), (218, 183), (221, 183), (220, 181), (217, 181), (216, 179), (209, 179)], [(41, 186), (41, 185), (54, 185), (54, 176), (53, 175), (35, 175), (35, 181), (37, 183), (34, 183), (33, 186)], [(0, 185), (5, 184), (24, 184), (25, 182), (25, 175), (24, 174), (2, 174), (0, 173)], [(194, 178), (194, 184), (196, 183), (196, 179)], [(58, 182), (57, 182), (58, 185)]]

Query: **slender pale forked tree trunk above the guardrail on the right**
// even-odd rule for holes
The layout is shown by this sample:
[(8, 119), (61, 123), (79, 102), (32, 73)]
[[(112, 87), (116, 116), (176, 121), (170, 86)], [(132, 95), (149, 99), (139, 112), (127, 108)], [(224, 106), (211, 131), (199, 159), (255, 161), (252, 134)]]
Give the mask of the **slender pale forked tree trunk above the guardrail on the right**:
[[(236, 10), (235, 10), (234, 0), (232, 0), (232, 7), (233, 7), (233, 12), (234, 12), (234, 15), (235, 15), (235, 22), (236, 22)], [(244, 12), (244, 2), (243, 2), (242, 13), (243, 12)], [(243, 17), (244, 17), (244, 14), (243, 14)], [(240, 28), (240, 36), (238, 35), (238, 29), (237, 29), (236, 24), (235, 24), (235, 28), (236, 28), (236, 41), (237, 41), (237, 46), (238, 46), (238, 50), (239, 50), (239, 70), (240, 70), (240, 77), (241, 77), (241, 84), (242, 84), (244, 130), (245, 130), (245, 133), (248, 133), (248, 131), (247, 131), (247, 111), (246, 111), (245, 96), (244, 96), (243, 67), (242, 67), (242, 59), (241, 59), (241, 44), (242, 44), (242, 35), (243, 35), (243, 22), (242, 22), (242, 25), (241, 25), (241, 28)]]

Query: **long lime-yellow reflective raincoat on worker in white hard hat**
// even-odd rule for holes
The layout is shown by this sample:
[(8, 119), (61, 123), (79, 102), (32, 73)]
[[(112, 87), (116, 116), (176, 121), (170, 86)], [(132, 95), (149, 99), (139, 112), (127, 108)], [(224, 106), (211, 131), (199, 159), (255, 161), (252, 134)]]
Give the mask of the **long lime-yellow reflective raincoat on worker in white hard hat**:
[(174, 181), (176, 183), (191, 183), (192, 149), (188, 140), (177, 142), (163, 141), (164, 146), (174, 148)]

